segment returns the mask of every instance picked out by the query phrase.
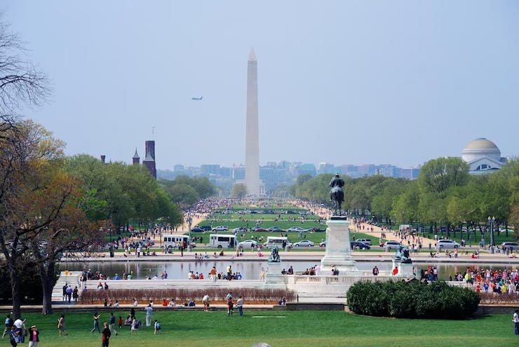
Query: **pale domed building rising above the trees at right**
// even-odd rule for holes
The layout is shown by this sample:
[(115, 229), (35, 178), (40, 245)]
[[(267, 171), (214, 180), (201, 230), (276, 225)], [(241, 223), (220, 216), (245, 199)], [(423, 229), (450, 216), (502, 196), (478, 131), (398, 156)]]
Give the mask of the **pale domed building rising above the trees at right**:
[(485, 175), (499, 170), (506, 163), (494, 142), (485, 138), (473, 140), (461, 151), (461, 158), (469, 164), (471, 175)]

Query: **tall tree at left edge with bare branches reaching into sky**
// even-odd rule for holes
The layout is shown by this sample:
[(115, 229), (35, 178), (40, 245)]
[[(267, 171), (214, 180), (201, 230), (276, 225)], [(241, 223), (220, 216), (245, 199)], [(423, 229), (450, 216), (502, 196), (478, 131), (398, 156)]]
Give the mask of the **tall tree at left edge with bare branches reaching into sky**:
[[(20, 267), (27, 246), (23, 238), (30, 231), (13, 219), (12, 207), (22, 193), (20, 184), (37, 160), (36, 143), (17, 124), (20, 109), (41, 104), (48, 96), (48, 81), (25, 60), (25, 48), (18, 35), (0, 18), (0, 250), (11, 276), (13, 313), (20, 316)], [(25, 129), (27, 130), (27, 129)], [(13, 206), (13, 204), (15, 206)], [(21, 240), (20, 240), (21, 239)]]

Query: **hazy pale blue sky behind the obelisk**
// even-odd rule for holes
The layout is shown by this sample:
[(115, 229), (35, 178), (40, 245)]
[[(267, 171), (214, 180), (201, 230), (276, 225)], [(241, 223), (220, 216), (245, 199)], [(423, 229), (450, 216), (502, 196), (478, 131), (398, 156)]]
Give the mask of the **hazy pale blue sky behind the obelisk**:
[[(25, 1), (4, 20), (53, 84), (27, 116), (67, 154), (157, 168), (245, 163), (258, 60), (260, 164), (519, 154), (519, 1)], [(191, 97), (203, 96), (201, 101)]]

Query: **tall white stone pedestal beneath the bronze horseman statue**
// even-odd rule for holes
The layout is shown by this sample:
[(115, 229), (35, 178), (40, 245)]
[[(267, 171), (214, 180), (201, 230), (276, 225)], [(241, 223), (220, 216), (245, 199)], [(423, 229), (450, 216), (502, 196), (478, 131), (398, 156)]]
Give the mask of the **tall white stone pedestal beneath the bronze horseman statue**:
[(334, 265), (339, 270), (339, 275), (358, 271), (351, 256), (349, 222), (346, 217), (334, 216), (326, 224), (326, 252), (321, 259), (321, 273), (331, 274)]

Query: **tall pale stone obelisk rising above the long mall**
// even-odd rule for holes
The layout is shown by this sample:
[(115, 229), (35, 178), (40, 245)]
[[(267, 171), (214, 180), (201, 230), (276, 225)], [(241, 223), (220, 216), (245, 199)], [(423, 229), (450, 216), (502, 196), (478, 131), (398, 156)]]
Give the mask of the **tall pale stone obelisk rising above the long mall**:
[(260, 195), (260, 145), (257, 126), (257, 60), (250, 50), (247, 63), (247, 121), (245, 132), (245, 184), (248, 194)]

